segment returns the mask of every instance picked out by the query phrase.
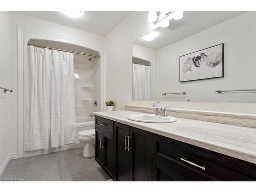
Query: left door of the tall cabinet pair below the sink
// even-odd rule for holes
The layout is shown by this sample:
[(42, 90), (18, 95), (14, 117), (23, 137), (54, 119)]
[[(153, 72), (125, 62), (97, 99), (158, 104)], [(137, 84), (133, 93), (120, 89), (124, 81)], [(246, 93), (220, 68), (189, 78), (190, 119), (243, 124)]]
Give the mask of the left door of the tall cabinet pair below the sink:
[(114, 123), (115, 130), (115, 177), (116, 181), (129, 181), (129, 152), (127, 149), (127, 136), (129, 126), (118, 122)]

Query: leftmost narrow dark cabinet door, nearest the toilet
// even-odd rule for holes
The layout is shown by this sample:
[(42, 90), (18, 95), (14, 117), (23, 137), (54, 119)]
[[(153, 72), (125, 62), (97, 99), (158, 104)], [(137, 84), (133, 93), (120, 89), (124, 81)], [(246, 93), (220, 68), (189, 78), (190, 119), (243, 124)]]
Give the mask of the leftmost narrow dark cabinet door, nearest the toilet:
[(101, 148), (103, 139), (103, 130), (95, 127), (95, 160), (100, 166), (103, 166), (103, 150)]

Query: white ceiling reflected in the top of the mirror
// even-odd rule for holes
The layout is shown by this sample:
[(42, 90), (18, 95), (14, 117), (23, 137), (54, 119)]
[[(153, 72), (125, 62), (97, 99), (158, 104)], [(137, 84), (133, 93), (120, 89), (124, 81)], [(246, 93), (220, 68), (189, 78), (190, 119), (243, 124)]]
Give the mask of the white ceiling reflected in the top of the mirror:
[(158, 36), (154, 40), (138, 39), (134, 44), (158, 50), (243, 13), (245, 11), (184, 11), (182, 19), (170, 20), (167, 28), (155, 29)]

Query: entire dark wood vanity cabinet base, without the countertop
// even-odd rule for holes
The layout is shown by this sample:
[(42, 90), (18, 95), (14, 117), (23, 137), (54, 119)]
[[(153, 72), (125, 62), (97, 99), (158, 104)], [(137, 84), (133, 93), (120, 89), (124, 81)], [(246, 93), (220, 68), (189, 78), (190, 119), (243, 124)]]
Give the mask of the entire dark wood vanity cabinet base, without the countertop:
[(95, 159), (115, 181), (256, 181), (256, 164), (95, 117)]

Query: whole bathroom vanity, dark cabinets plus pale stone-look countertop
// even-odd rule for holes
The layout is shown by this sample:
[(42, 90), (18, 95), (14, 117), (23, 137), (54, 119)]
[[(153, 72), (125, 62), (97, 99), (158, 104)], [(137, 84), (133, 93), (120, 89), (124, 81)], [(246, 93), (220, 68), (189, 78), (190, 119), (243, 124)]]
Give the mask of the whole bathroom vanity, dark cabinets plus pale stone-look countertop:
[(141, 113), (95, 113), (95, 159), (113, 180), (256, 181), (255, 129), (182, 118), (142, 123), (127, 119), (133, 114)]

